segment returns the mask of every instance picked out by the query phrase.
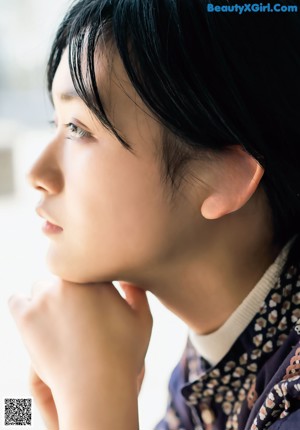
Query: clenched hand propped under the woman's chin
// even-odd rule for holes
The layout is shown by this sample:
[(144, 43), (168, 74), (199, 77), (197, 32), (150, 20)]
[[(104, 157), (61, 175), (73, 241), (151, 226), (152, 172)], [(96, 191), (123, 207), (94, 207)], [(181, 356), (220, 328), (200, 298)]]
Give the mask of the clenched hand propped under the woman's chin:
[[(66, 405), (73, 412), (76, 405), (86, 414), (93, 408), (99, 413), (114, 382), (130, 392), (135, 381), (136, 392), (152, 318), (145, 293), (125, 283), (122, 287), (127, 302), (110, 283), (64, 281), (39, 284), (30, 299), (13, 296), (9, 301), (34, 369), (53, 393), (59, 420), (70, 416)], [(102, 409), (101, 419), (117, 422), (109, 409)]]

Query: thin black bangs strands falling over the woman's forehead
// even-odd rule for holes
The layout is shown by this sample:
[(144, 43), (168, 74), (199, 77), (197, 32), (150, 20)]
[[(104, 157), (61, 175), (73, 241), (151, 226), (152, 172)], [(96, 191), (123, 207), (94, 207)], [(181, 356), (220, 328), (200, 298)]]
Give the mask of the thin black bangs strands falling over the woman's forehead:
[(133, 151), (109, 120), (100, 88), (97, 86), (95, 55), (101, 51), (107, 61), (110, 60), (109, 44), (113, 41), (111, 1), (92, 1), (90, 5), (81, 7), (84, 3), (75, 3), (57, 32), (48, 62), (48, 91), (51, 97), (57, 67), (63, 52), (68, 48), (75, 91), (102, 125), (111, 131), (126, 149)]

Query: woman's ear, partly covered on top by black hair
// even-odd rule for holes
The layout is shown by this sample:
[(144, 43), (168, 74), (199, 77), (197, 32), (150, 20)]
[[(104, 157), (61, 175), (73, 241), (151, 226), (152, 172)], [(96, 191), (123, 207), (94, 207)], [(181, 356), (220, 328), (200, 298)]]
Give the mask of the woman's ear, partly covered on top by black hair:
[(217, 219), (243, 207), (256, 191), (263, 167), (241, 146), (234, 145), (212, 162), (207, 183), (209, 192), (202, 203), (206, 219)]

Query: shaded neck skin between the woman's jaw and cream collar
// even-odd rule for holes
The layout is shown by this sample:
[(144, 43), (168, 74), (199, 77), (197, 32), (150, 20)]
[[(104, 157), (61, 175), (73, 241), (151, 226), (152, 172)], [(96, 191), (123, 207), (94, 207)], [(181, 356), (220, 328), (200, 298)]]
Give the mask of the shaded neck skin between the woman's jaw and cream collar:
[[(198, 334), (208, 334), (229, 318), (280, 248), (272, 243), (271, 213), (263, 191), (239, 211), (207, 221), (205, 252), (189, 253), (164, 271), (149, 274), (147, 289)], [(203, 225), (201, 228), (203, 238)], [(198, 243), (201, 243), (200, 230)], [(191, 247), (195, 247), (193, 238)], [(143, 281), (145, 288), (145, 280)]]

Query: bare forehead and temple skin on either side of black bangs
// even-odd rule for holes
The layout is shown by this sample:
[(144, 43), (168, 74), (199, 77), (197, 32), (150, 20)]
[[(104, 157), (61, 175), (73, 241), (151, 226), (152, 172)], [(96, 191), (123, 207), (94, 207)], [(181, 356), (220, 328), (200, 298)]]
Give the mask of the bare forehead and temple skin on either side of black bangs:
[[(111, 55), (108, 60), (109, 54)], [(98, 53), (95, 56), (96, 84), (109, 120), (129, 144), (137, 139), (142, 143), (149, 138), (159, 142), (161, 125), (135, 91), (116, 50), (109, 50), (109, 54)], [(69, 52), (66, 49), (54, 76), (53, 100), (55, 104), (57, 101), (76, 101), (83, 104), (74, 88), (68, 57)], [(84, 62), (82, 74), (85, 76)]]

